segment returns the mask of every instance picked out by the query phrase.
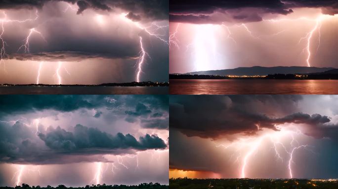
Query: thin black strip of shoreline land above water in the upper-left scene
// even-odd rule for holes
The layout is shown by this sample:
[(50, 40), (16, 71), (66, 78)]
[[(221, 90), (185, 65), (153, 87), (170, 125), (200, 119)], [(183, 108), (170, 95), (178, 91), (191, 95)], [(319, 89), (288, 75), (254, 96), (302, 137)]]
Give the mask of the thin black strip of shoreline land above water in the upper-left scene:
[(130, 83), (103, 83), (99, 85), (48, 85), (48, 84), (0, 84), (0, 86), (44, 86), (44, 87), (168, 87), (168, 82), (130, 82)]

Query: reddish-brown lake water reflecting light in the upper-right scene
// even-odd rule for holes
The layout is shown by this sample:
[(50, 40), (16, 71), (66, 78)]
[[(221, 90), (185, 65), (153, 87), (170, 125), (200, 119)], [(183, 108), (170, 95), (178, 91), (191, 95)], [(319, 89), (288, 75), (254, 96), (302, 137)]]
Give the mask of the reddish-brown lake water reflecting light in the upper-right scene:
[(175, 80), (169, 81), (170, 94), (338, 94), (338, 80)]

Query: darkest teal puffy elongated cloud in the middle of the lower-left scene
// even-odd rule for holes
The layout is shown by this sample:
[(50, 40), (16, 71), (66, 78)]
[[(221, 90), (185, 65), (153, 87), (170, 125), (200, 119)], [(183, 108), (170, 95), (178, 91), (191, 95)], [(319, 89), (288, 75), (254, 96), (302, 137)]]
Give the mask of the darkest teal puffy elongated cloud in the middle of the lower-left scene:
[(46, 146), (53, 150), (78, 151), (90, 148), (103, 149), (165, 149), (165, 142), (155, 135), (146, 134), (137, 141), (130, 134), (117, 133), (115, 136), (102, 132), (97, 128), (77, 125), (74, 132), (66, 131), (60, 127), (49, 127), (46, 134), (39, 133), (39, 137)]

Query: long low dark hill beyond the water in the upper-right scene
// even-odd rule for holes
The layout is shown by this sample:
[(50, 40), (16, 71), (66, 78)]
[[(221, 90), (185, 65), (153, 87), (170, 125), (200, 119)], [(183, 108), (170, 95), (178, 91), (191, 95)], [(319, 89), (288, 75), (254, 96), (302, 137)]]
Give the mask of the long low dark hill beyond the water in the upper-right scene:
[(238, 67), (234, 69), (221, 69), (209, 71), (196, 71), (186, 74), (197, 75), (268, 75), (268, 74), (304, 74), (304, 73), (319, 73), (325, 71), (337, 70), (333, 67), (305, 67), (305, 66), (275, 66), (275, 67)]

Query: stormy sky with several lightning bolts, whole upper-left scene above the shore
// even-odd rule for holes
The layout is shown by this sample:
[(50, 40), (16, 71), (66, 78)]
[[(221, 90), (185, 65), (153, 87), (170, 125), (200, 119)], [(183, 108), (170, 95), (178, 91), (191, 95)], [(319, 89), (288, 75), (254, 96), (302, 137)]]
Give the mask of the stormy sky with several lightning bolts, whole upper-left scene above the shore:
[(168, 0), (10, 0), (0, 25), (0, 83), (168, 81)]

